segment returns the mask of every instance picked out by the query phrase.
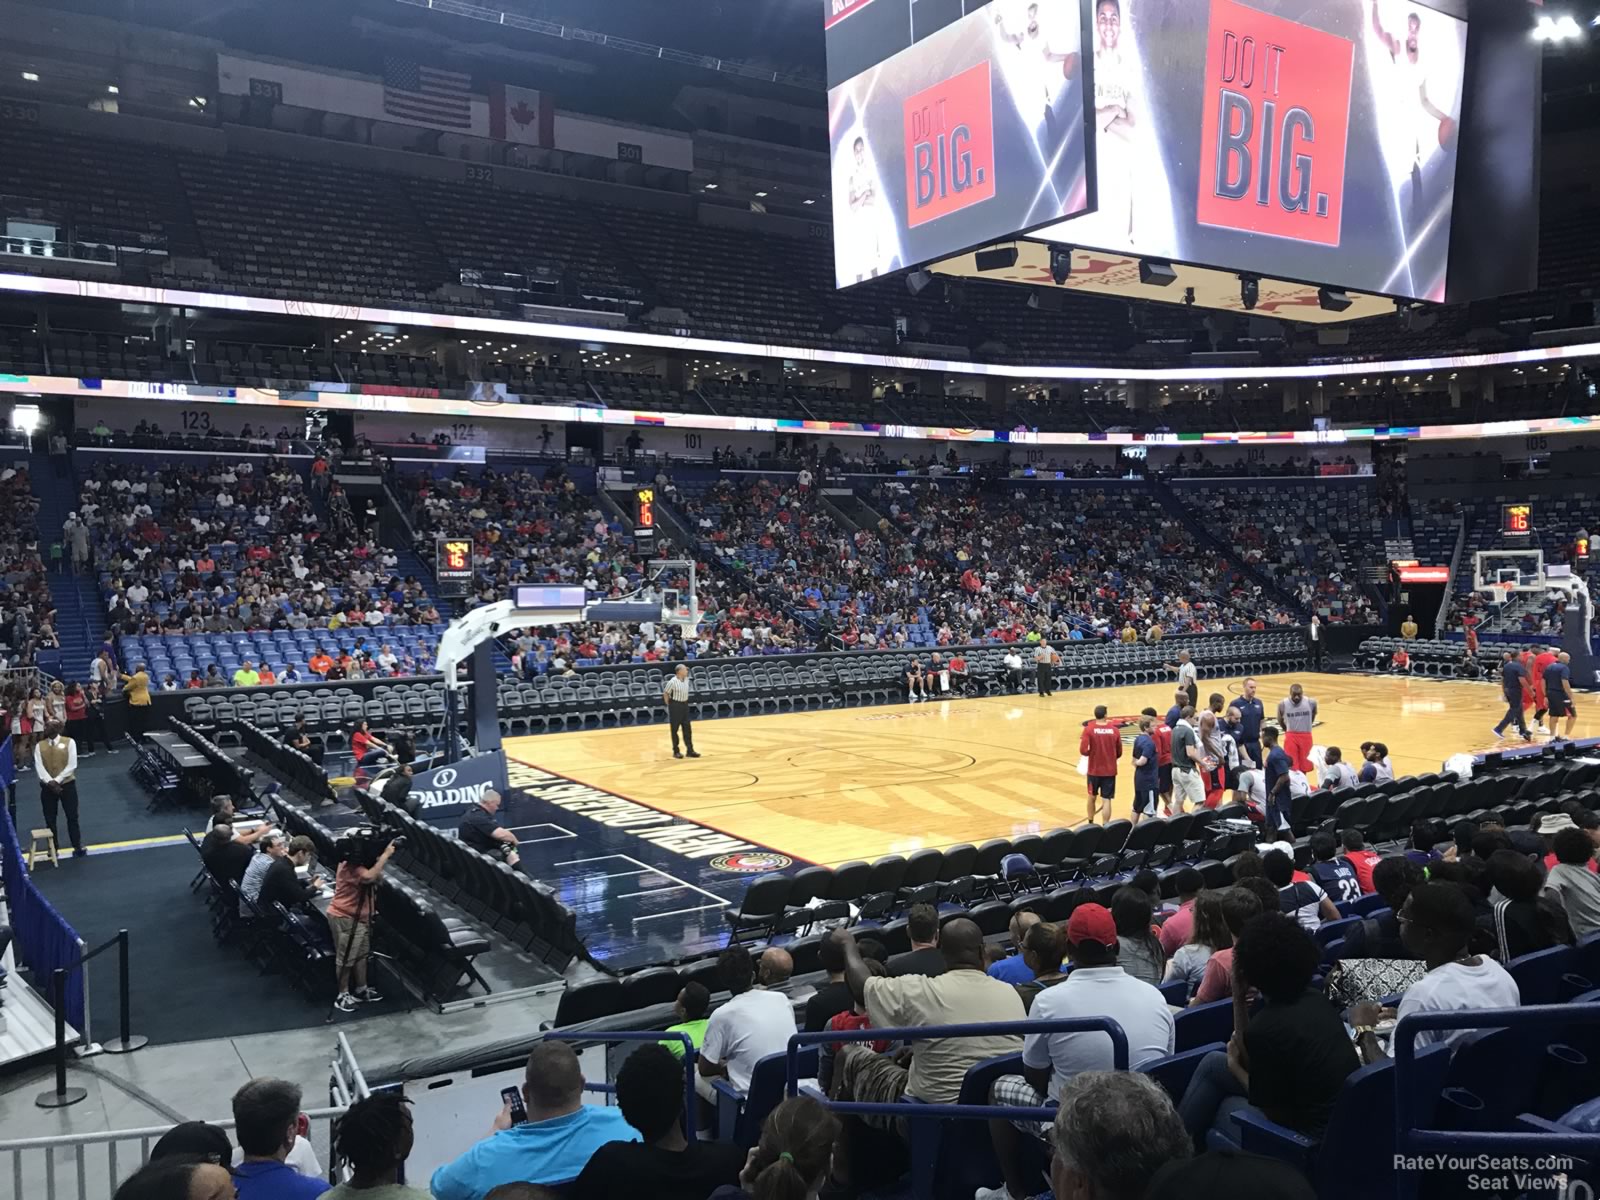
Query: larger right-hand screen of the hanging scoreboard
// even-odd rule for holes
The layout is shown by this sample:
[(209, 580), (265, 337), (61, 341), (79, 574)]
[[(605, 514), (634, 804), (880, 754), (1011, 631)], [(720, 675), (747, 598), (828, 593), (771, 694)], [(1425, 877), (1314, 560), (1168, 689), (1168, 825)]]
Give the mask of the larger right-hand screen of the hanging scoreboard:
[(1085, 0), (1090, 250), (1445, 299), (1464, 0)]

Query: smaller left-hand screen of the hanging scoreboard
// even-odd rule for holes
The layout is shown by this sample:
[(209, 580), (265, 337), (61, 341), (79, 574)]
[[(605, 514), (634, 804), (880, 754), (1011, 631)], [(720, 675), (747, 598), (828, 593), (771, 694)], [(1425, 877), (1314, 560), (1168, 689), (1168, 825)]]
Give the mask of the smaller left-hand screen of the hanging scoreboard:
[[(830, 54), (848, 26), (862, 37), (838, 45), (870, 61), (827, 94), (842, 288), (1093, 205), (1080, 0), (933, 5), (926, 32), (923, 6), (867, 0), (826, 18)], [(882, 14), (894, 29), (877, 29)], [(894, 34), (907, 45), (877, 58)]]

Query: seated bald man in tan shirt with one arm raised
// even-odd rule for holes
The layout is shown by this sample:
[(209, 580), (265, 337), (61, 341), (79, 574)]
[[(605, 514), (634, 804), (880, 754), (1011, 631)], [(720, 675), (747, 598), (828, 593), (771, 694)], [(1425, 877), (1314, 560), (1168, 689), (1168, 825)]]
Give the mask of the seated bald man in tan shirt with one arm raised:
[[(1022, 1021), (1022, 997), (1011, 984), (984, 974), (984, 936), (958, 917), (939, 931), (944, 974), (874, 976), (843, 930), (832, 934), (845, 954), (845, 979), (866, 1000), (867, 1018), (878, 1029)], [(910, 1070), (888, 1054), (861, 1043), (840, 1048), (834, 1064), (834, 1099), (898, 1104), (910, 1096), (926, 1104), (954, 1104), (966, 1070), (987, 1058), (1014, 1054), (1022, 1040), (1011, 1035), (934, 1038), (912, 1043)], [(891, 1118), (867, 1117), (869, 1125), (898, 1131)]]

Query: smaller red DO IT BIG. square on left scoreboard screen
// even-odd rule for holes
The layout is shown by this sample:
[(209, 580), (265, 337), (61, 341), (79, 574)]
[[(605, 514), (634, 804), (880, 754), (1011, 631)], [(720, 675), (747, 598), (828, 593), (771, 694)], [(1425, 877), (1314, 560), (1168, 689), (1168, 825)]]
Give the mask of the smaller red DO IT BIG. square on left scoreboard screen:
[(994, 101), (979, 62), (906, 99), (906, 195), (910, 227), (995, 194)]

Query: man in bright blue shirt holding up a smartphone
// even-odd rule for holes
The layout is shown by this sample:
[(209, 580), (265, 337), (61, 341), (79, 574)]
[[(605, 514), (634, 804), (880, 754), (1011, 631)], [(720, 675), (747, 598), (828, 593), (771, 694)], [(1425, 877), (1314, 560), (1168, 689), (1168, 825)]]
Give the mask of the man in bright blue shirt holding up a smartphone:
[(539, 1042), (528, 1053), (518, 1099), (525, 1120), (506, 1102), (483, 1141), (434, 1171), (434, 1200), (483, 1200), (518, 1181), (563, 1184), (606, 1142), (638, 1141), (621, 1109), (582, 1102), (584, 1074), (565, 1042)]

